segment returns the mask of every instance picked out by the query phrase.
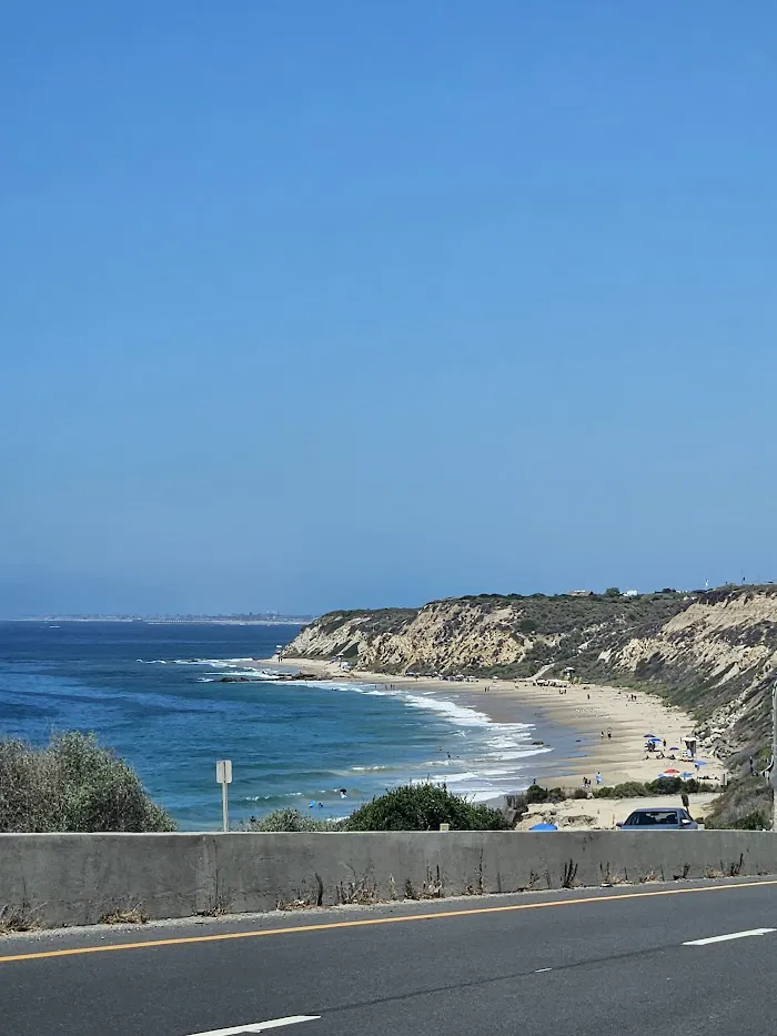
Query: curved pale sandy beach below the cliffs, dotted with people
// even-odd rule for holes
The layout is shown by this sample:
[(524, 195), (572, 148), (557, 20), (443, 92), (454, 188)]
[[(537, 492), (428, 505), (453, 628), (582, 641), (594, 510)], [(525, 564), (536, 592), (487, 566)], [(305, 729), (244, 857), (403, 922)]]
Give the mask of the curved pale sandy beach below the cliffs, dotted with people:
[[(495, 724), (529, 722), (537, 726), (551, 724), (574, 736), (566, 746), (546, 743), (552, 751), (527, 756), (516, 768), (516, 784), (527, 786), (528, 776), (546, 787), (576, 788), (583, 778), (595, 782), (597, 773), (602, 784), (612, 786), (627, 781), (647, 783), (666, 768), (696, 775), (693, 763), (682, 761), (679, 752), (683, 736), (694, 731), (694, 721), (682, 708), (667, 705), (645, 691), (622, 690), (602, 684), (573, 684), (537, 686), (531, 680), (475, 680), (467, 683), (450, 682), (427, 676), (392, 676), (365, 670), (343, 673), (334, 663), (323, 660), (284, 657), (259, 660), (262, 665), (302, 671), (313, 678), (343, 683), (370, 683), (417, 690), (426, 694), (442, 694), (448, 701), (476, 708)], [(542, 733), (542, 732), (539, 732)], [(645, 758), (645, 734), (655, 734), (666, 741), (665, 757), (655, 754)], [(571, 747), (574, 745), (574, 747)], [(562, 754), (563, 753), (563, 754)], [(670, 756), (674, 755), (673, 760)], [(704, 757), (707, 763), (698, 776), (710, 778), (710, 791), (720, 787), (724, 766), (716, 758)], [(594, 784), (595, 786), (595, 784)], [(516, 786), (515, 791), (521, 788)]]

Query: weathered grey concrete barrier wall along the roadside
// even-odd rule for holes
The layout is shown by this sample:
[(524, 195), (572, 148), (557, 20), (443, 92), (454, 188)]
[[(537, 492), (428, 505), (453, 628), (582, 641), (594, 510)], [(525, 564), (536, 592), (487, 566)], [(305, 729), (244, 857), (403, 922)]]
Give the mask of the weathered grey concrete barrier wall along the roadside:
[(771, 832), (0, 835), (0, 918), (95, 924), (777, 874)]

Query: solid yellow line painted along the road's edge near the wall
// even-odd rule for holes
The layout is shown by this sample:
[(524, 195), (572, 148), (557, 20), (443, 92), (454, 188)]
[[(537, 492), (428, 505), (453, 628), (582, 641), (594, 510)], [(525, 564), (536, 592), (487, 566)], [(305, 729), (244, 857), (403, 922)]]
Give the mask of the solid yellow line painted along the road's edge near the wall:
[(78, 957), (90, 953), (114, 953), (121, 949), (149, 949), (158, 946), (184, 946), (190, 943), (224, 943), (228, 939), (254, 939), (271, 935), (295, 935), (302, 932), (331, 932), (335, 928), (366, 928), (373, 925), (396, 925), (406, 922), (438, 921), (446, 917), (475, 917), (481, 914), (511, 914), (516, 911), (541, 911), (581, 903), (618, 903), (623, 899), (652, 899), (657, 896), (687, 896), (694, 893), (733, 892), (738, 888), (763, 888), (777, 885), (777, 878), (766, 882), (740, 882), (736, 885), (703, 885), (697, 888), (663, 888), (658, 892), (627, 892), (607, 896), (581, 896), (571, 899), (548, 899), (542, 903), (514, 903), (509, 906), (482, 906), (466, 911), (440, 911), (433, 914), (403, 914), (401, 917), (370, 917), (364, 921), (336, 921), (321, 925), (295, 925), (289, 928), (260, 928), (256, 932), (222, 932), (216, 935), (191, 935), (174, 939), (147, 939), (141, 943), (112, 943), (108, 946), (79, 946), (71, 949), (49, 949), (43, 953), (11, 954), (0, 957), (0, 964), (14, 960), (43, 960), (49, 957)]

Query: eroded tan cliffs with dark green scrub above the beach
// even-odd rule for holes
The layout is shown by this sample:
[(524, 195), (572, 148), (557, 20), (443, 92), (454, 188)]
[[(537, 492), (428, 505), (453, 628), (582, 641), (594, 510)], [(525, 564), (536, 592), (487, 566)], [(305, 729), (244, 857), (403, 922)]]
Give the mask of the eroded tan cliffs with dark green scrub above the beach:
[(777, 587), (638, 597), (535, 594), (331, 612), (287, 648), (382, 673), (533, 676), (573, 666), (683, 705), (722, 755), (765, 747), (777, 662)]

